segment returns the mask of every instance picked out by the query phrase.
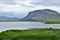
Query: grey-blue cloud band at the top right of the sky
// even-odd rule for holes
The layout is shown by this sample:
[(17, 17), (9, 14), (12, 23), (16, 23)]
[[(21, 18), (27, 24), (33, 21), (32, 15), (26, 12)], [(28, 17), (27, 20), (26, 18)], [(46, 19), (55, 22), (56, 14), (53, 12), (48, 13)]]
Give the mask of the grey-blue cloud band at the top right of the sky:
[(34, 5), (46, 5), (46, 6), (60, 6), (60, 0), (33, 0), (31, 4)]

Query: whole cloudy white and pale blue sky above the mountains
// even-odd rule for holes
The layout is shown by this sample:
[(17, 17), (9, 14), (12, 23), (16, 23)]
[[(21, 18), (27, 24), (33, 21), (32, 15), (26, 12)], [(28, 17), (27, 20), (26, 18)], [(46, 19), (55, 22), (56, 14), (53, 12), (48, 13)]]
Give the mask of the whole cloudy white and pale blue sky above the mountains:
[(0, 0), (0, 15), (22, 18), (30, 11), (41, 9), (60, 12), (60, 0)]

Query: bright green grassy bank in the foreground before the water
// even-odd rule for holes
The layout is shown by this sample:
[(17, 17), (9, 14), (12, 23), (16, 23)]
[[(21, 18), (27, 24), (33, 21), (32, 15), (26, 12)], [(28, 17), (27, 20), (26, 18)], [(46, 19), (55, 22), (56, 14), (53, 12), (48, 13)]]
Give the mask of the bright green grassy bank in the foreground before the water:
[(0, 40), (60, 40), (60, 29), (7, 30), (0, 33)]

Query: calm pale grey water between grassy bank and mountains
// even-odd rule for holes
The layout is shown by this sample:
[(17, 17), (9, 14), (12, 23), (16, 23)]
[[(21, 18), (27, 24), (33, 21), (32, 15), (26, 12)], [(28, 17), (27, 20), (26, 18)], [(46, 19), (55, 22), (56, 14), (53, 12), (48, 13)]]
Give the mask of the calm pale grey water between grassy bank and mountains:
[(0, 22), (0, 31), (10, 29), (30, 29), (30, 28), (60, 28), (60, 24), (43, 24), (40, 22)]

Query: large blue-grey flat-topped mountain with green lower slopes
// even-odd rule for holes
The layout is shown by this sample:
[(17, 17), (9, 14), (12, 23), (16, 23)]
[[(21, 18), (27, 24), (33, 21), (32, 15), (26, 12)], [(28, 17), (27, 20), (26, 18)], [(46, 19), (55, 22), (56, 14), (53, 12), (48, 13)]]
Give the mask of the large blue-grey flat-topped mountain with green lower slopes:
[(50, 21), (60, 21), (60, 13), (50, 10), (50, 9), (43, 9), (43, 10), (35, 10), (28, 13), (26, 17), (22, 20), (25, 21), (40, 21), (40, 22), (50, 22)]

